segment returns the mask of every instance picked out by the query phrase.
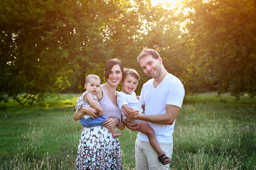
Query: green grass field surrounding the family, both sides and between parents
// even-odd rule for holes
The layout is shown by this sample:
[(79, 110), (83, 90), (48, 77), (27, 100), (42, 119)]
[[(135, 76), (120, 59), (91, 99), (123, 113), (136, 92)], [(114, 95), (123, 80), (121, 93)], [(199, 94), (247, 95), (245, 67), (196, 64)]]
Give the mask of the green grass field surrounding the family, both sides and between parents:
[[(256, 169), (256, 98), (216, 93), (185, 97), (173, 133), (170, 169)], [(81, 135), (73, 120), (80, 94), (47, 99), (48, 106), (0, 103), (0, 169), (74, 169)], [(224, 100), (225, 101), (225, 100)], [(119, 137), (123, 169), (136, 169), (137, 133)]]

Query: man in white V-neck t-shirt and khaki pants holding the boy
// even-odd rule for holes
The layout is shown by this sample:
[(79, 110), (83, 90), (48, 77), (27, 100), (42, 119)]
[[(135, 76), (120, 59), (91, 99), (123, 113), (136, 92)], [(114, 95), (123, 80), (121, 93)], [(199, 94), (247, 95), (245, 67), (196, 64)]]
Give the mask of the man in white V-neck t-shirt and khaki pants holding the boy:
[[(144, 48), (137, 59), (144, 73), (152, 77), (143, 85), (139, 98), (142, 107), (145, 108), (145, 115), (136, 114), (134, 117), (124, 111), (125, 116), (129, 120), (148, 121), (156, 132), (156, 139), (161, 149), (166, 154), (160, 160), (165, 157), (171, 158), (172, 133), (185, 90), (181, 81), (165, 70), (162, 58), (156, 50)], [(136, 124), (131, 124), (129, 120), (126, 120), (126, 127), (139, 132), (138, 127), (133, 127)], [(157, 159), (156, 151), (149, 144), (147, 136), (141, 132), (138, 133), (135, 143), (135, 157), (137, 170), (169, 169), (169, 164), (162, 165)]]

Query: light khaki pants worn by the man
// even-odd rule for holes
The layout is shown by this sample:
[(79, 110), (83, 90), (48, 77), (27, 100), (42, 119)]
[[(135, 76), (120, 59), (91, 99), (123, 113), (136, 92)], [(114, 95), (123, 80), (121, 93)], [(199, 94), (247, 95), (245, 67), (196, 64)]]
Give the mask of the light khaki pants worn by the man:
[[(159, 143), (160, 148), (166, 156), (172, 158), (172, 143)], [(158, 160), (158, 154), (152, 148), (149, 142), (141, 141), (138, 137), (135, 143), (135, 157), (137, 170), (169, 170), (170, 164), (163, 165)]]

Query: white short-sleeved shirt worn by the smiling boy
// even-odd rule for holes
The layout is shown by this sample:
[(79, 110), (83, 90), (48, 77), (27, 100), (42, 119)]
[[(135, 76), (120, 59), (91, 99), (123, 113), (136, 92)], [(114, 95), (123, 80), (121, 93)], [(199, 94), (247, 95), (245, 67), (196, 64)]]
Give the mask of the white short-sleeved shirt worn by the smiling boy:
[(134, 91), (132, 92), (132, 95), (127, 95), (124, 92), (120, 91), (117, 94), (116, 101), (117, 101), (118, 107), (122, 113), (122, 121), (125, 121), (125, 119), (126, 119), (123, 109), (122, 109), (122, 106), (124, 104), (128, 104), (128, 106), (132, 107), (135, 110), (140, 111), (140, 113), (143, 112), (141, 104), (140, 104), (139, 100), (136, 98), (136, 94)]

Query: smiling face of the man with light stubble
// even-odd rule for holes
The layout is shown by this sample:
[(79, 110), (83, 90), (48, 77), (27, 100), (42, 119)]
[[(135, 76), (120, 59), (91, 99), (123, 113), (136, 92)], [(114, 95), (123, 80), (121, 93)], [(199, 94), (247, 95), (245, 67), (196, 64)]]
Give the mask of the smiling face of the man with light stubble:
[(162, 73), (162, 58), (155, 59), (152, 55), (145, 56), (140, 59), (139, 64), (144, 73), (148, 76), (157, 79)]

